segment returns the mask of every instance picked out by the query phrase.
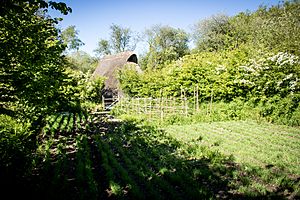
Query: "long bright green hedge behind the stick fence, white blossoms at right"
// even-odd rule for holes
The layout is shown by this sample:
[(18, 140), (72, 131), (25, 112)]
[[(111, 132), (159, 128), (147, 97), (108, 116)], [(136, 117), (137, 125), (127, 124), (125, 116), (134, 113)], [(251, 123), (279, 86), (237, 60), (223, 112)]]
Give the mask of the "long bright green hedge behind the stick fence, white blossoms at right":
[[(193, 98), (198, 86), (201, 102), (211, 98), (217, 102), (249, 101), (249, 105), (257, 107), (250, 116), (298, 125), (295, 118), (299, 104), (299, 72), (297, 56), (282, 52), (253, 54), (251, 47), (241, 46), (231, 51), (187, 55), (162, 69), (146, 70), (141, 74), (124, 69), (119, 79), (122, 89), (133, 97), (180, 97), (184, 91), (186, 97)], [(226, 119), (228, 115), (225, 118), (221, 113), (215, 116)]]

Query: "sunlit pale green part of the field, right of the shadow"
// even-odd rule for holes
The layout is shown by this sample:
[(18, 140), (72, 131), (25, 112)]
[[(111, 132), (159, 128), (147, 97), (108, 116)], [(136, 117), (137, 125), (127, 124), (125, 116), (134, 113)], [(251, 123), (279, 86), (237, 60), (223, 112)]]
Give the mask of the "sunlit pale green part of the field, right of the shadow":
[(171, 125), (172, 137), (209, 146), (238, 163), (258, 167), (274, 165), (300, 175), (300, 128), (255, 121), (228, 121)]

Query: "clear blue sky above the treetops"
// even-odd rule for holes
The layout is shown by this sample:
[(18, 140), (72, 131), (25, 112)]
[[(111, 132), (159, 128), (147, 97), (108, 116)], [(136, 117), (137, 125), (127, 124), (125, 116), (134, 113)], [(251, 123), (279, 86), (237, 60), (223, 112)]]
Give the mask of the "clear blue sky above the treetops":
[[(85, 43), (80, 50), (94, 55), (100, 39), (109, 39), (112, 24), (142, 33), (153, 25), (169, 25), (191, 32), (198, 21), (216, 14), (233, 16), (243, 11), (255, 11), (260, 5), (271, 6), (279, 0), (57, 0), (72, 8), (64, 16), (51, 11), (53, 17), (62, 17), (59, 27), (75, 25), (78, 36)], [(135, 52), (147, 50), (140, 42)]]

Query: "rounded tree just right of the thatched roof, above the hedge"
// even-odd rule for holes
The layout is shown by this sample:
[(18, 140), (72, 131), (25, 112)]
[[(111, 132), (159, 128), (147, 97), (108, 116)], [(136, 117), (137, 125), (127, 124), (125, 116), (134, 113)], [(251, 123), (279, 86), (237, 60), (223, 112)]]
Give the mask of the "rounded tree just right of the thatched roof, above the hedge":
[(155, 25), (145, 31), (149, 51), (142, 59), (143, 68), (158, 68), (161, 64), (177, 60), (189, 51), (188, 34), (182, 29)]

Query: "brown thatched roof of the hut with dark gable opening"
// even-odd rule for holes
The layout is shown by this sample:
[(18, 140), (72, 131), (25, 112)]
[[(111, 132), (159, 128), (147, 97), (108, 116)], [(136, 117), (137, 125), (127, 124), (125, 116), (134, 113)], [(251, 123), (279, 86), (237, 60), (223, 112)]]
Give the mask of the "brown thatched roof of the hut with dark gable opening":
[(117, 80), (117, 71), (128, 63), (136, 64), (137, 70), (140, 71), (137, 56), (131, 51), (105, 56), (99, 61), (93, 76), (99, 75), (107, 78), (105, 81), (105, 89), (118, 90), (119, 82)]

